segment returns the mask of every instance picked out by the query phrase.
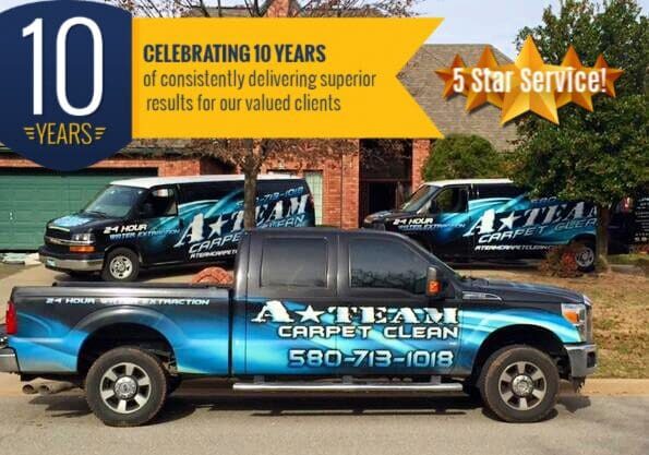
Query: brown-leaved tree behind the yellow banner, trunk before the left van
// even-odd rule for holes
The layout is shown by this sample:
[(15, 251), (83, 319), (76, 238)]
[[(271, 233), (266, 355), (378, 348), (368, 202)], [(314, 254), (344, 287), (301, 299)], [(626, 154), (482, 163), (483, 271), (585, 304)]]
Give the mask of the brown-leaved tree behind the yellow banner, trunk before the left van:
[[(134, 15), (145, 17), (205, 16), (223, 17), (226, 7), (221, 0), (215, 7), (204, 0), (104, 0), (123, 8)], [(268, 14), (275, 0), (242, 0), (244, 5), (233, 7), (251, 17)], [(288, 11), (295, 16), (408, 16), (413, 0), (287, 0)], [(243, 188), (243, 225), (245, 229), (256, 226), (256, 181), (265, 161), (284, 159), (302, 166), (340, 158), (344, 154), (358, 152), (354, 141), (348, 140), (269, 140), (269, 139), (206, 139), (188, 142), (188, 148), (217, 157), (240, 169), (245, 176)], [(341, 170), (342, 171), (342, 170)]]

